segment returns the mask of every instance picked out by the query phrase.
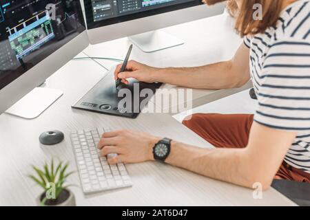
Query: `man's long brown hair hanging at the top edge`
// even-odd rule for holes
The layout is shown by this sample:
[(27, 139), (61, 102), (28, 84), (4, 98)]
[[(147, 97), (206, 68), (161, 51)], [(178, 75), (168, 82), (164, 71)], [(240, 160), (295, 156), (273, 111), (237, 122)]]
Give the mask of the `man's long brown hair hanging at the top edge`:
[[(203, 0), (208, 5), (227, 1), (227, 8), (236, 17), (236, 30), (240, 36), (264, 33), (267, 28), (275, 27), (283, 6), (283, 0), (243, 0), (240, 9), (235, 0)], [(254, 5), (262, 5), (262, 20), (253, 18)]]

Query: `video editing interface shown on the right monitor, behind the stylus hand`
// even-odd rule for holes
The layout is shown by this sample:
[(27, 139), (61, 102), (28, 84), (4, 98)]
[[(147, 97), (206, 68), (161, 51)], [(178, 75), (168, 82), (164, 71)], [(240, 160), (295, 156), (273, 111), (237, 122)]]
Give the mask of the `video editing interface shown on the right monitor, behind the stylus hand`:
[(92, 0), (93, 21), (121, 17), (193, 0)]

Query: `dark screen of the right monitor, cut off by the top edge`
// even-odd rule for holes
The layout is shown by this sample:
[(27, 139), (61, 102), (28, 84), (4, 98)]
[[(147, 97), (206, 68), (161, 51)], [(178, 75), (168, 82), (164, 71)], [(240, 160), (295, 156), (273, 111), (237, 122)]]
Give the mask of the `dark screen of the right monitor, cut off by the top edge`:
[(200, 4), (201, 0), (84, 0), (90, 29)]

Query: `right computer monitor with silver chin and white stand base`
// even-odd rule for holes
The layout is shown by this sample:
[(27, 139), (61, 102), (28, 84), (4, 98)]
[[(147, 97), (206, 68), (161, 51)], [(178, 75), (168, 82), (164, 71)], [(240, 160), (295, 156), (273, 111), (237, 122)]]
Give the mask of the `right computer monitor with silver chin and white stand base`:
[(130, 36), (144, 52), (183, 44), (182, 36), (151, 31), (211, 17), (225, 9), (223, 3), (207, 6), (201, 0), (84, 0), (84, 5), (90, 43)]

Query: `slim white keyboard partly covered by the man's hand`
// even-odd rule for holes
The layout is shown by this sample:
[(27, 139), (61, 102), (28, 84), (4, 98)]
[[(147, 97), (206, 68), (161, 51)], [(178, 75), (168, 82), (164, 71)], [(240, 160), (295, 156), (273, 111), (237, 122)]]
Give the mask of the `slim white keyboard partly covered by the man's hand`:
[[(85, 194), (132, 186), (125, 165), (109, 165), (97, 148), (102, 133), (108, 128), (72, 131), (71, 142)], [(112, 156), (112, 155), (108, 155)]]

